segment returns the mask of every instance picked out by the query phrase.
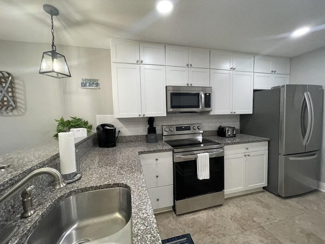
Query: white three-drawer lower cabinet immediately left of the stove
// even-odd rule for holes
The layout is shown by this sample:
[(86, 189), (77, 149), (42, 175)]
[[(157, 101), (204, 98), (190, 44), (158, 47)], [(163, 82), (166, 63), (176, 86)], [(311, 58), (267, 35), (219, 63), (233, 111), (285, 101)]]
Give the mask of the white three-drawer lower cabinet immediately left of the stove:
[(153, 210), (170, 210), (173, 206), (173, 153), (139, 155)]

